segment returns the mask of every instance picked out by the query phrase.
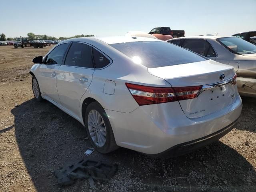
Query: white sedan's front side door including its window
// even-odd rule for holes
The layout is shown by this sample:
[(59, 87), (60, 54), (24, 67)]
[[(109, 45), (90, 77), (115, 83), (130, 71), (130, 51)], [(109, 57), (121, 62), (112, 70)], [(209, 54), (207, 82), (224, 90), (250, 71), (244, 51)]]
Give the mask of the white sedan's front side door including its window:
[(56, 86), (58, 68), (62, 64), (69, 43), (56, 46), (44, 59), (39, 69), (38, 82), (43, 97), (60, 103)]

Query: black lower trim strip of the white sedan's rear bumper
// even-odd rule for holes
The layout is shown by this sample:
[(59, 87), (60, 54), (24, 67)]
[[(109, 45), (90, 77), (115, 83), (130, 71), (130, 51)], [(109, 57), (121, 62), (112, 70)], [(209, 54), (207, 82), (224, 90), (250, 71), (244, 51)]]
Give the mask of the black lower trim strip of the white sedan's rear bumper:
[(166, 157), (181, 156), (181, 155), (190, 153), (193, 150), (196, 150), (198, 148), (206, 146), (216, 140), (219, 140), (220, 138), (222, 138), (223, 136), (228, 134), (228, 132), (230, 132), (236, 126), (237, 121), (238, 121), (238, 119), (235, 120), (234, 122), (232, 122), (230, 125), (226, 126), (225, 128), (223, 128), (215, 133), (212, 133), (208, 136), (205, 136), (205, 137), (193, 140), (193, 141), (178, 144), (176, 146), (169, 148), (168, 150), (166, 150), (164, 152), (161, 152), (158, 154), (153, 154), (150, 156), (166, 158)]

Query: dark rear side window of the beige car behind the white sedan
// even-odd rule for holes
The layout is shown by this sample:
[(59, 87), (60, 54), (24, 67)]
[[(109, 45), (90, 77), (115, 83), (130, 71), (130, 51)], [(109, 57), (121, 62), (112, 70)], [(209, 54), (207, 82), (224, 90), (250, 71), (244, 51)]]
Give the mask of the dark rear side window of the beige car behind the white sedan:
[(202, 39), (186, 39), (182, 47), (196, 52), (205, 57), (216, 57), (216, 54), (209, 42)]

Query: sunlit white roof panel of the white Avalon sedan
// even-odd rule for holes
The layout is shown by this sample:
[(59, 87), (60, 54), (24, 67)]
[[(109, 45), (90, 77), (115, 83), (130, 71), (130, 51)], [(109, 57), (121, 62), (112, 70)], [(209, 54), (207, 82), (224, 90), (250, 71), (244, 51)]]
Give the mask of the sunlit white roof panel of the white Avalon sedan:
[(72, 38), (72, 39), (65, 40), (65, 42), (68, 42), (68, 41), (87, 42), (88, 40), (101, 41), (101, 42), (105, 42), (106, 44), (137, 42), (137, 41), (162, 41), (159, 39), (146, 38), (146, 37), (133, 37), (133, 36), (108, 36), (108, 37), (95, 36), (95, 37)]

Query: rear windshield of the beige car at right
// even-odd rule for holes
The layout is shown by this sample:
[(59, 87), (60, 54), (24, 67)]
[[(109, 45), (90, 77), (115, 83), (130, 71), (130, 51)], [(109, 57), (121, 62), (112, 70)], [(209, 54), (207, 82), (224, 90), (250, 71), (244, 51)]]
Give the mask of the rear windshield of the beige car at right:
[(218, 41), (223, 44), (228, 50), (236, 54), (250, 54), (256, 53), (256, 46), (241, 38), (224, 37), (218, 38)]

